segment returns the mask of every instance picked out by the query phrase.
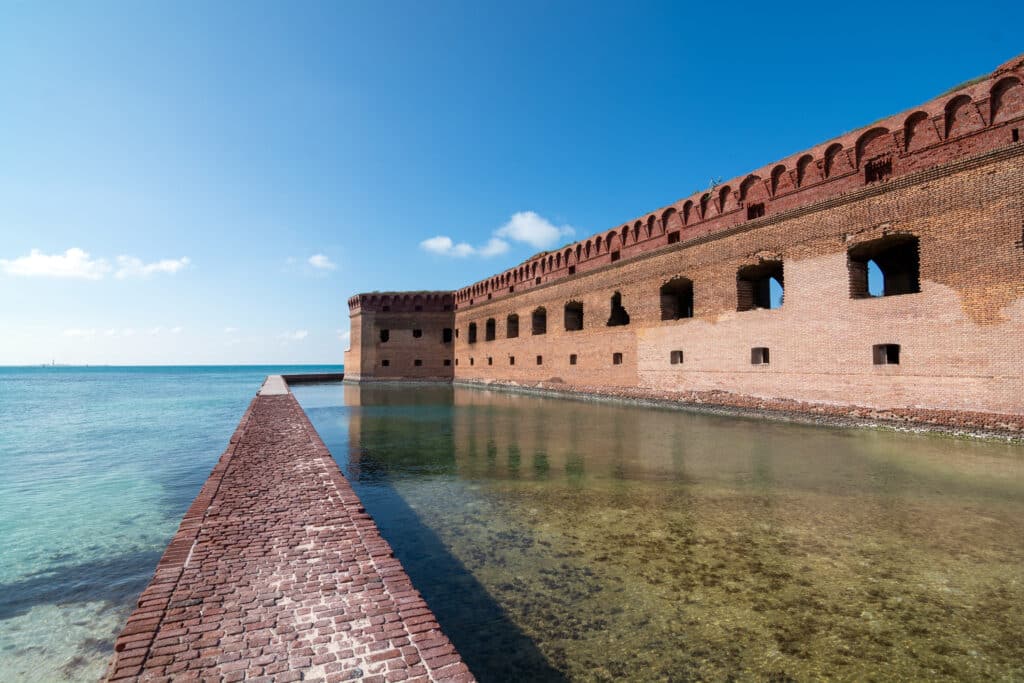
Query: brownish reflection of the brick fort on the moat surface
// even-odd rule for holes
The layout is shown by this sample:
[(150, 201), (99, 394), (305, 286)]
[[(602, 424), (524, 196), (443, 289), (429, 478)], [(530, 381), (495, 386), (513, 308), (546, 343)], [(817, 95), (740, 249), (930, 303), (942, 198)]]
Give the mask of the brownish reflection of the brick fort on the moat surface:
[[(756, 419), (440, 383), (400, 388), (346, 384), (343, 391), (353, 477), (360, 475), (364, 459), (373, 459), (376, 466), (394, 456), (367, 453), (365, 444), (380, 442), (381, 430), (400, 430), (403, 458), (423, 447), (432, 452), (430, 463), (437, 467), (441, 445), (446, 473), (470, 480), (568, 486), (582, 485), (584, 479), (588, 485), (718, 480), (723, 486), (778, 484), (896, 496), (907, 478), (894, 466), (898, 451), (893, 442), (869, 431), (766, 425)], [(429, 412), (424, 429), (418, 427), (420, 410)], [(367, 438), (365, 429), (374, 430), (375, 437)], [(438, 439), (447, 442), (438, 444)], [(943, 443), (921, 439), (913, 447), (926, 463), (941, 463)]]

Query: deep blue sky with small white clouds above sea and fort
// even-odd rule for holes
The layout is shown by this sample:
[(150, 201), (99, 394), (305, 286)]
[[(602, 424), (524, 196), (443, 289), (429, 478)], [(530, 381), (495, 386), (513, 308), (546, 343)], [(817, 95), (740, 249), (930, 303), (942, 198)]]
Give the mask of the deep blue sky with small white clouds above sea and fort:
[(353, 293), (469, 284), (1024, 51), (1024, 6), (970, 9), (2, 3), (0, 365), (340, 362)]

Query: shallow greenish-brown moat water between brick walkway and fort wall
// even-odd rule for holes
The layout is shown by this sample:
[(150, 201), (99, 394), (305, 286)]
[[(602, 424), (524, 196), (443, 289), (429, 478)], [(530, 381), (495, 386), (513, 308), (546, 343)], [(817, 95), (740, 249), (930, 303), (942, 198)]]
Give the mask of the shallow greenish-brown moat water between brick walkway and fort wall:
[(1024, 678), (1019, 445), (295, 393), (483, 681)]

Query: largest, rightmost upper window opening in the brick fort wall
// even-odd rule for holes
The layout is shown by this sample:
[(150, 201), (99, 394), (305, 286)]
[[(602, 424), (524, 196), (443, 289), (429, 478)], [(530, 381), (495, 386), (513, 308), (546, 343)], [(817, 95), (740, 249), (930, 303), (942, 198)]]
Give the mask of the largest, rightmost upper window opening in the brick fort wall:
[(897, 296), (921, 291), (921, 257), (918, 238), (891, 234), (851, 247), (850, 298)]

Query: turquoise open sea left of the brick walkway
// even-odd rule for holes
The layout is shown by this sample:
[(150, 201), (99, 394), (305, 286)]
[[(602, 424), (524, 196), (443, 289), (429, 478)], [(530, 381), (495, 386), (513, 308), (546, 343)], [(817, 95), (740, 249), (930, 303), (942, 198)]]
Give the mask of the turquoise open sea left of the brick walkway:
[(0, 681), (95, 681), (263, 378), (0, 368)]

